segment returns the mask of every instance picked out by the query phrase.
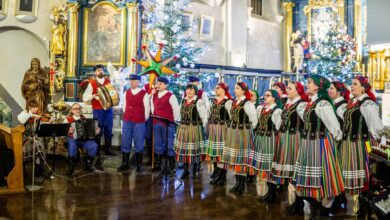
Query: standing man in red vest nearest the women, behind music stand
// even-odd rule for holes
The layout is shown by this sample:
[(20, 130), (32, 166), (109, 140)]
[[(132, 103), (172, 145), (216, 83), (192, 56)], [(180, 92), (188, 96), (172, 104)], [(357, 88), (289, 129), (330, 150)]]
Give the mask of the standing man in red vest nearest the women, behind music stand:
[[(176, 96), (167, 90), (169, 81), (165, 77), (157, 78), (157, 93), (152, 92), (152, 114), (161, 118), (166, 118), (170, 122), (180, 119), (180, 108)], [(167, 130), (168, 129), (168, 130)], [(175, 151), (173, 150), (173, 141), (175, 139), (175, 124), (167, 123), (158, 119), (153, 119), (154, 131), (154, 152), (156, 154), (156, 166), (152, 172), (161, 170), (163, 154), (168, 144), (168, 160), (171, 170), (175, 169)], [(168, 132), (168, 140), (167, 140)]]

